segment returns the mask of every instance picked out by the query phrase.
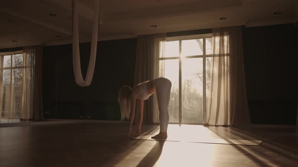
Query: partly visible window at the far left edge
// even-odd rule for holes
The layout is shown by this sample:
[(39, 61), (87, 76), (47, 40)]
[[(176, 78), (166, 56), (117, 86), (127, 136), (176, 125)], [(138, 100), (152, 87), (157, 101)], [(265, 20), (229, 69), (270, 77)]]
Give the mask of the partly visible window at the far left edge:
[(22, 51), (0, 53), (0, 119), (19, 119), (23, 87)]

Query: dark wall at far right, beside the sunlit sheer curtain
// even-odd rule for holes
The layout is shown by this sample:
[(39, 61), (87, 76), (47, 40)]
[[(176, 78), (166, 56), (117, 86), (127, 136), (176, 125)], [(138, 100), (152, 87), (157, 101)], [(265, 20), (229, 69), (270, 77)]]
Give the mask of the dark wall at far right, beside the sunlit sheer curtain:
[(242, 28), (247, 99), (253, 124), (295, 124), (297, 32), (293, 24)]

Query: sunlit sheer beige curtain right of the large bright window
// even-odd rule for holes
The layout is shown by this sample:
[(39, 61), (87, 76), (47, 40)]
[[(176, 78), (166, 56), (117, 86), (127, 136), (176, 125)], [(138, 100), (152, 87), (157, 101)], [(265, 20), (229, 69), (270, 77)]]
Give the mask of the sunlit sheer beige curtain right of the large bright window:
[(213, 57), (205, 125), (247, 125), (247, 106), (241, 27), (212, 30)]

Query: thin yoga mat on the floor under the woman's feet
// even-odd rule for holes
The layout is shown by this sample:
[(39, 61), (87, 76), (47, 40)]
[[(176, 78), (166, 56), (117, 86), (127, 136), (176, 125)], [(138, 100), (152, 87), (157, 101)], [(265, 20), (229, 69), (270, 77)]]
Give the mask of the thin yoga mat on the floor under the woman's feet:
[(159, 141), (175, 141), (175, 142), (192, 142), (192, 143), (212, 143), (212, 144), (232, 144), (232, 145), (260, 145), (262, 140), (239, 140), (239, 139), (212, 139), (212, 138), (179, 138), (168, 137), (167, 139), (152, 139), (152, 135), (144, 135), (138, 137), (130, 137), (136, 140), (159, 140)]

